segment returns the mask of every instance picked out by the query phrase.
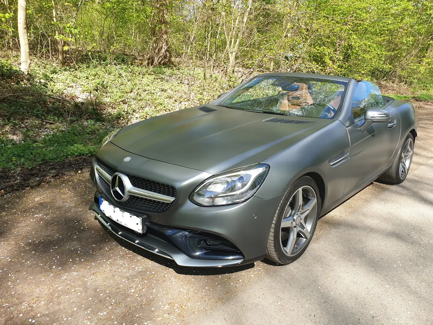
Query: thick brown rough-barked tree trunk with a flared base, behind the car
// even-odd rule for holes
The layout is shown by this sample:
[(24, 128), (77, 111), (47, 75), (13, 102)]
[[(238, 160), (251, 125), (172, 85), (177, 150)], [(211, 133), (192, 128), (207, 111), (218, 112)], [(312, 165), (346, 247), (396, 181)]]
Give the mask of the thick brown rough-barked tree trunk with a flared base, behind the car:
[(147, 65), (172, 64), (170, 53), (170, 42), (168, 39), (168, 0), (153, 0), (150, 36), (153, 46), (147, 57)]

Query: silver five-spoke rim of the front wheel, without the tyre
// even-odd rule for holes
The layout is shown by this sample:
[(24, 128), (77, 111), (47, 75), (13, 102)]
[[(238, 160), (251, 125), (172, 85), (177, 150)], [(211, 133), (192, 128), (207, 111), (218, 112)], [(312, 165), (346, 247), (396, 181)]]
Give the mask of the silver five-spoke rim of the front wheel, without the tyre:
[(294, 256), (304, 248), (316, 215), (316, 192), (311, 186), (301, 186), (290, 198), (281, 221), (280, 242), (284, 254)]

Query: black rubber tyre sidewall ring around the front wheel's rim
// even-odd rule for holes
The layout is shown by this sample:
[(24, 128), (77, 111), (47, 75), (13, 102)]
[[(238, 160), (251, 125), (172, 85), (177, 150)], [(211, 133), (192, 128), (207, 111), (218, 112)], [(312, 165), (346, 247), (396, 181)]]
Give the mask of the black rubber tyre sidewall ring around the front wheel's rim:
[[(294, 195), (294, 193), (301, 187), (304, 185), (308, 185), (311, 188), (313, 188), (314, 192), (316, 192), (316, 198), (317, 198), (317, 214), (316, 214), (316, 218), (314, 218), (313, 221), (313, 225), (311, 227), (311, 236), (308, 239), (307, 243), (304, 245), (304, 247), (299, 251), (299, 253), (297, 253), (294, 256), (287, 256), (286, 254), (284, 254), (283, 249), (281, 248), (281, 221), (284, 217), (284, 211), (286, 210), (287, 205), (289, 204), (289, 200), (291, 199), (291, 197)], [(282, 200), (282, 204), (281, 204), (281, 209), (280, 211), (278, 211), (278, 216), (277, 219), (275, 221), (275, 230), (274, 230), (274, 250), (275, 253), (277, 253), (278, 256), (278, 260), (280, 260), (282, 263), (284, 264), (288, 264), (288, 263), (292, 263), (295, 260), (297, 260), (299, 257), (301, 257), (301, 255), (304, 253), (305, 250), (307, 250), (308, 245), (310, 244), (311, 240), (313, 239), (314, 236), (314, 232), (316, 230), (316, 226), (317, 226), (317, 220), (319, 219), (319, 215), (320, 215), (320, 208), (322, 206), (322, 200), (320, 198), (320, 194), (319, 194), (319, 189), (317, 188), (316, 182), (314, 182), (314, 180), (309, 177), (309, 176), (302, 176), (300, 178), (298, 178), (291, 186), (290, 188), (288, 188), (287, 192), (284, 195), (284, 198)]]

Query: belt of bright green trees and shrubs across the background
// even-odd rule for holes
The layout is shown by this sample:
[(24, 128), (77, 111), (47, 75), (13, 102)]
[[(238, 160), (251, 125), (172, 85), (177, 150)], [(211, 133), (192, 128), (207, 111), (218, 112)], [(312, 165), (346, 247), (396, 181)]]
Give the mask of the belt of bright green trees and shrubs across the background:
[[(18, 50), (16, 5), (16, 0), (0, 3), (0, 49)], [(253, 0), (251, 5), (246, 12), (249, 0), (169, 0), (175, 62), (203, 66), (207, 77), (216, 68), (228, 77), (234, 65), (250, 74), (315, 72), (433, 91), (432, 1)], [(54, 60), (59, 40), (72, 66), (144, 65), (161, 27), (149, 1), (39, 0), (30, 1), (27, 10), (31, 54)]]

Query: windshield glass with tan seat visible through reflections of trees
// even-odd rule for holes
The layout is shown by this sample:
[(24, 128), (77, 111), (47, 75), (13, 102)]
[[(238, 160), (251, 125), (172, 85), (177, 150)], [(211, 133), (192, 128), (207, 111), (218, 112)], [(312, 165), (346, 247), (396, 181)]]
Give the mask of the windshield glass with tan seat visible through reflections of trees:
[(294, 76), (252, 79), (219, 105), (301, 117), (333, 118), (340, 107), (346, 81)]

